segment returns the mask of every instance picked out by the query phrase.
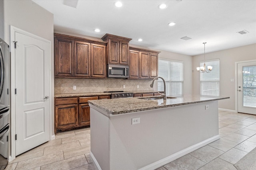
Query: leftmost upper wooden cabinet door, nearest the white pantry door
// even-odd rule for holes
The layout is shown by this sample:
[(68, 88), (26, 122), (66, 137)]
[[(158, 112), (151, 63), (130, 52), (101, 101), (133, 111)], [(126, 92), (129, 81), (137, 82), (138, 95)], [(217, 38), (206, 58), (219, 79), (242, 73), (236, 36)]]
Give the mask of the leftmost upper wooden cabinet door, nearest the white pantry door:
[(74, 41), (54, 39), (54, 75), (55, 77), (71, 77), (74, 75)]

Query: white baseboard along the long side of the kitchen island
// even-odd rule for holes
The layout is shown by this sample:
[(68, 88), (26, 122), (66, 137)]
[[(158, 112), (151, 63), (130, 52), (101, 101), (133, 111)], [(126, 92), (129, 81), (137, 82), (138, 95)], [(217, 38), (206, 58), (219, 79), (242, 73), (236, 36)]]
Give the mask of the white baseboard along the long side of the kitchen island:
[(172, 162), (172, 161), (174, 161), (174, 160), (176, 160), (176, 159), (178, 159), (178, 158), (180, 158), (180, 157), (182, 157), (182, 156), (184, 156), (184, 155), (186, 155), (186, 154), (188, 154), (190, 152), (193, 152), (194, 150), (197, 150), (197, 149), (199, 149), (201, 147), (204, 147), (204, 146), (208, 145), (209, 143), (212, 143), (212, 142), (214, 142), (214, 141), (216, 141), (218, 139), (220, 139), (220, 135), (216, 135), (216, 136), (211, 137), (211, 138), (209, 138), (209, 139), (207, 139), (205, 141), (197, 143), (196, 145), (193, 145), (193, 146), (188, 147), (188, 148), (186, 148), (184, 150), (176, 152), (175, 154), (167, 156), (166, 158), (163, 158), (163, 159), (158, 160), (158, 161), (156, 161), (156, 162), (154, 162), (152, 164), (144, 166), (143, 168), (140, 168), (139, 170), (155, 170), (155, 169), (157, 169), (157, 168), (159, 168), (161, 166), (164, 166), (165, 164), (168, 164), (169, 162)]

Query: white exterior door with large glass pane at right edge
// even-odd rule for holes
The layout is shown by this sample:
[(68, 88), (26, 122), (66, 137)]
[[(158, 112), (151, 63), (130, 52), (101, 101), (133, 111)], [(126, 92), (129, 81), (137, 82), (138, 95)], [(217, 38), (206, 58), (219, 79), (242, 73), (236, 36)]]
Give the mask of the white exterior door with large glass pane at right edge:
[(256, 115), (256, 61), (238, 63), (238, 112)]

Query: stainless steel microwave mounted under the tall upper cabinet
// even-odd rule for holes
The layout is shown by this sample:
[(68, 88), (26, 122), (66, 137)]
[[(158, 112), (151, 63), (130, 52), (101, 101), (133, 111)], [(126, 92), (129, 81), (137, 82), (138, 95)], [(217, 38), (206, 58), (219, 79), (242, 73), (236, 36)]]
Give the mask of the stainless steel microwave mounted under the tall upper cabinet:
[(108, 74), (110, 78), (128, 78), (129, 77), (129, 66), (108, 64)]

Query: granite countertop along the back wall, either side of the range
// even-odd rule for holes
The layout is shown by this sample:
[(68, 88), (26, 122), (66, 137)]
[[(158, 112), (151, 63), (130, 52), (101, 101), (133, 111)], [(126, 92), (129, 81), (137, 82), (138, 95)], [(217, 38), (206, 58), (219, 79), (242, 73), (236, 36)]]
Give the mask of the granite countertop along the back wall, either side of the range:
[[(126, 91), (125, 91), (126, 92)], [(139, 93), (157, 93), (158, 91), (127, 91), (132, 92), (134, 94)], [(111, 95), (111, 93), (104, 93), (104, 92), (94, 92), (94, 93), (66, 93), (66, 94), (54, 94), (54, 97), (79, 97), (79, 96), (100, 96), (100, 95)]]

